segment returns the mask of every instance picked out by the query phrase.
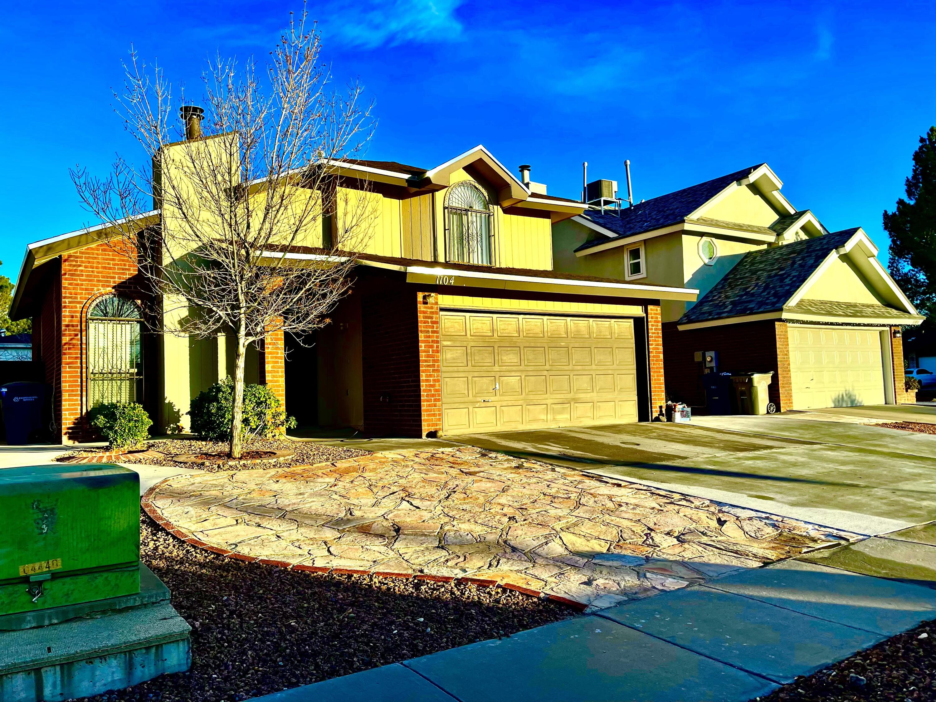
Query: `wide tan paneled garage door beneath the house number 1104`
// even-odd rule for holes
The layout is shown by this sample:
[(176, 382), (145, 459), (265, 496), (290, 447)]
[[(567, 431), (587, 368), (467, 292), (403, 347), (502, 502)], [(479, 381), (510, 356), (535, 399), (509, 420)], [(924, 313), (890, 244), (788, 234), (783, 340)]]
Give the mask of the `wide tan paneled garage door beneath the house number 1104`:
[(443, 431), (637, 418), (632, 319), (443, 310)]

